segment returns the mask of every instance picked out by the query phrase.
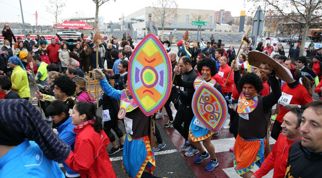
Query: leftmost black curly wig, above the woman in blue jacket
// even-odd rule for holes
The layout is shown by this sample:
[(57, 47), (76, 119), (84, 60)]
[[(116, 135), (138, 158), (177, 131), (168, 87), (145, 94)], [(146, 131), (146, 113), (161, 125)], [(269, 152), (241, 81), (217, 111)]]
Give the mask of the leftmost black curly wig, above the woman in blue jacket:
[(54, 80), (54, 85), (57, 85), (62, 92), (71, 96), (76, 91), (76, 84), (67, 76), (56, 77)]

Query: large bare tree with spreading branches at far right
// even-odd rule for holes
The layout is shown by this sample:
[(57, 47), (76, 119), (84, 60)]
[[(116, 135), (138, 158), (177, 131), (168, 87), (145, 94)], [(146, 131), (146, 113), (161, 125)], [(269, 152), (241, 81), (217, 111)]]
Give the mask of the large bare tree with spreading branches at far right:
[[(322, 0), (245, 0), (246, 4), (266, 4), (265, 16), (276, 15), (276, 20), (303, 27), (300, 55), (303, 55), (310, 25), (321, 22)], [(254, 5), (255, 7), (257, 5)]]

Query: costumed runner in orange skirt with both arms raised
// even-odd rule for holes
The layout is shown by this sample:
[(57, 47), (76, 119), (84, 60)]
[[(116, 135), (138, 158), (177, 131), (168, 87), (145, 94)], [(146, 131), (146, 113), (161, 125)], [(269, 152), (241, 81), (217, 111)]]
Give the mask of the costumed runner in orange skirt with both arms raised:
[(254, 164), (260, 166), (264, 161), (264, 150), (271, 107), (281, 96), (274, 70), (268, 64), (260, 64), (263, 72), (270, 78), (272, 93), (258, 97), (263, 88), (262, 81), (254, 73), (241, 77), (238, 66), (233, 61), (234, 82), (240, 93), (237, 112), (239, 113), (238, 135), (234, 147), (234, 169), (242, 177), (251, 177)]

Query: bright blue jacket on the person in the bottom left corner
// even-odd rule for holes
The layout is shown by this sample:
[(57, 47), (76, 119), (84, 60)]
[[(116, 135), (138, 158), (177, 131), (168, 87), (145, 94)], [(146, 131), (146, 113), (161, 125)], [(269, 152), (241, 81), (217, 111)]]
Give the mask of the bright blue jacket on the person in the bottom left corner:
[(0, 158), (0, 177), (65, 178), (58, 163), (45, 157), (36, 142), (26, 139)]

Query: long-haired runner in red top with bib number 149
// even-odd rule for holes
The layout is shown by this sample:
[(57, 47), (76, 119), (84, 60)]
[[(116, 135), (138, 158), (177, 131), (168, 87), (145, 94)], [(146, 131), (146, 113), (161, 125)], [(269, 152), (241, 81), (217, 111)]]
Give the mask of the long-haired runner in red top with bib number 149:
[[(278, 103), (280, 103), (281, 106), (279, 109), (279, 112), (276, 117), (276, 121), (274, 122), (271, 136), (277, 140), (279, 137), (279, 134), (282, 130), (281, 124), (283, 122), (283, 117), (286, 113), (289, 112), (292, 108), (301, 108), (305, 109), (306, 105), (313, 101), (312, 99), (312, 82), (308, 77), (302, 76), (301, 71), (298, 69), (295, 69), (293, 64), (291, 64), (291, 73), (293, 76), (293, 82), (292, 83), (284, 83), (282, 85), (282, 96), (279, 99)], [(302, 84), (300, 83), (300, 79), (302, 81)]]

